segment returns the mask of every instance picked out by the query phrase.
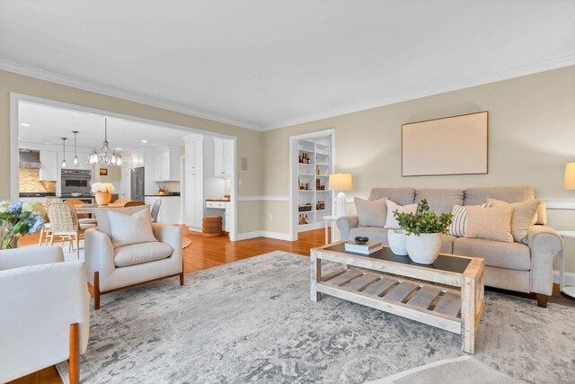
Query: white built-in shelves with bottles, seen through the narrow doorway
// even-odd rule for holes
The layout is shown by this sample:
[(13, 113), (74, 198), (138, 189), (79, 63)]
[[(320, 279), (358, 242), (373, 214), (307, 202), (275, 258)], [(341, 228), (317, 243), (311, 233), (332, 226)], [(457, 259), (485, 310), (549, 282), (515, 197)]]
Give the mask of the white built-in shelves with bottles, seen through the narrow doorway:
[(321, 139), (297, 141), (298, 231), (323, 228), (332, 214), (332, 192), (327, 190), (331, 172), (331, 146)]

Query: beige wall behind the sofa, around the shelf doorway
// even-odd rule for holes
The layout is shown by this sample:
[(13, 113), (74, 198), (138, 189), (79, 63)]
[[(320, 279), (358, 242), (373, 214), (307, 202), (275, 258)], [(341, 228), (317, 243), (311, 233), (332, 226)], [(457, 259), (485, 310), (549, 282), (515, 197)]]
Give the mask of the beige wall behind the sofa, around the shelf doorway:
[[(402, 177), (403, 123), (480, 111), (489, 111), (489, 174)], [(335, 171), (353, 174), (348, 196), (367, 197), (375, 186), (532, 185), (544, 198), (575, 199), (575, 192), (562, 189), (563, 166), (575, 160), (575, 67), (264, 132), (266, 195), (289, 194), (289, 137), (329, 128), (335, 129)], [(288, 222), (288, 204), (274, 205), (282, 207), (274, 209), (274, 221)], [(575, 229), (575, 210), (550, 210), (549, 223)], [(575, 257), (569, 270), (575, 272)]]

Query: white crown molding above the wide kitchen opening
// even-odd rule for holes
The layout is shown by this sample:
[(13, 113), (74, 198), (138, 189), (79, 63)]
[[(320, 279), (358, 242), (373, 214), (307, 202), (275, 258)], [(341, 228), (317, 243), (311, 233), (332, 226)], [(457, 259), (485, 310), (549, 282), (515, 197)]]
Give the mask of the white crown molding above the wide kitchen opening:
[(96, 94), (105, 94), (111, 97), (117, 97), (119, 99), (127, 100), (129, 102), (140, 103), (149, 105), (156, 108), (162, 108), (167, 111), (184, 113), (187, 115), (192, 115), (199, 117), (201, 119), (207, 119), (211, 121), (222, 122), (225, 124), (234, 125), (236, 127), (252, 130), (263, 130), (261, 126), (255, 125), (246, 121), (236, 121), (234, 119), (229, 119), (224, 116), (212, 115), (205, 112), (199, 112), (190, 108), (173, 105), (172, 103), (167, 103), (163, 100), (155, 99), (144, 94), (135, 94), (119, 88), (99, 85), (97, 83), (84, 81), (72, 76), (60, 75), (54, 72), (49, 72), (43, 69), (29, 67), (18, 63), (13, 63), (12, 61), (7, 61), (0, 59), (0, 69), (8, 72), (13, 72), (18, 75), (30, 76), (38, 78), (40, 80), (49, 81), (52, 83), (57, 83), (60, 85), (71, 86), (78, 89), (83, 89), (84, 91), (94, 92)]

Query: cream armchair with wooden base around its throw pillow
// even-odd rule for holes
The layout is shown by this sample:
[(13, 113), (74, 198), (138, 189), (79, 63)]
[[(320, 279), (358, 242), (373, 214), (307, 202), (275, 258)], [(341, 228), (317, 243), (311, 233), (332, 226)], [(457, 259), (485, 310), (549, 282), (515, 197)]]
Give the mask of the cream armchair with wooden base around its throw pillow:
[[(113, 209), (131, 215), (146, 206)], [(110, 210), (110, 209), (108, 209)], [(114, 247), (106, 209), (94, 210), (98, 228), (85, 232), (84, 259), (88, 282), (93, 285), (94, 308), (104, 294), (171, 277), (183, 285), (181, 228), (151, 224), (156, 242)], [(149, 214), (149, 213), (148, 213)]]

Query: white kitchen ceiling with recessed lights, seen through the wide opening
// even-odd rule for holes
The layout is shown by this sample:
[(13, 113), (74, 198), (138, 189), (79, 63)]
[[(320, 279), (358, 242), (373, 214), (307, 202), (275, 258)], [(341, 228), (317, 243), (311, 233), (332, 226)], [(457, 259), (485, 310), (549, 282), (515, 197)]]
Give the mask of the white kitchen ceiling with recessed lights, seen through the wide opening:
[[(61, 145), (67, 138), (66, 147), (74, 145), (73, 130), (77, 130), (78, 147), (102, 147), (104, 139), (104, 116), (77, 112), (37, 103), (19, 103), (18, 138), (21, 143)], [(22, 124), (30, 125), (25, 126)], [(121, 148), (126, 153), (137, 148), (155, 148), (164, 145), (182, 147), (180, 129), (159, 127), (136, 121), (108, 118), (108, 141), (111, 149)], [(147, 143), (142, 143), (146, 140)], [(21, 146), (22, 147), (22, 146)], [(25, 147), (25, 146), (24, 146)]]

